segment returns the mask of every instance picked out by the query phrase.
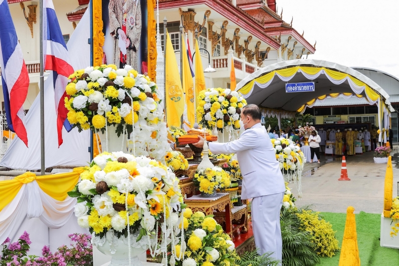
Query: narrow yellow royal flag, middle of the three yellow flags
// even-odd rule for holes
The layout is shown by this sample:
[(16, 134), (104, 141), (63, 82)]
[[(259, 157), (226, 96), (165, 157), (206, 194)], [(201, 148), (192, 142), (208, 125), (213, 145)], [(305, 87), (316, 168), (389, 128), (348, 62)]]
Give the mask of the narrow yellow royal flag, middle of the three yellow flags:
[(182, 35), (182, 51), (183, 51), (183, 91), (186, 93), (187, 118), (190, 126), (193, 127), (196, 122), (196, 110), (194, 108), (194, 82), (191, 74), (189, 57), (184, 37)]

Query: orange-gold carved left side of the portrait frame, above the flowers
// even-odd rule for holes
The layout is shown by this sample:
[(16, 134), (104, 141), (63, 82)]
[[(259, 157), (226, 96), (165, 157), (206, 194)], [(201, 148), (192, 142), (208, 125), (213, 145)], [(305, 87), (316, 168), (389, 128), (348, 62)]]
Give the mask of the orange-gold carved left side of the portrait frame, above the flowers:
[(93, 66), (102, 64), (104, 40), (102, 0), (93, 0)]

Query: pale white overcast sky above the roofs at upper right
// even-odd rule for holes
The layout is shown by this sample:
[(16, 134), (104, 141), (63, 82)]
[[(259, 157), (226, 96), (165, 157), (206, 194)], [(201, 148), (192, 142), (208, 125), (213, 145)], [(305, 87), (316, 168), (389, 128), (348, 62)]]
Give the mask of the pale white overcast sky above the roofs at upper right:
[(399, 78), (399, 0), (276, 0), (312, 45), (308, 58), (370, 67)]

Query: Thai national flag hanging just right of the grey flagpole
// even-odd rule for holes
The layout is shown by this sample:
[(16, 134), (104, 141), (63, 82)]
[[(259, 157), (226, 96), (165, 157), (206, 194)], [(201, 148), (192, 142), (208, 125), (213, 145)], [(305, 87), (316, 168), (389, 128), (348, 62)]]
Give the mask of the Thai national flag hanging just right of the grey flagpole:
[(53, 70), (55, 112), (57, 114), (58, 147), (62, 144), (62, 125), (69, 132), (72, 126), (64, 105), (65, 87), (73, 73), (64, 37), (55, 14), (52, 0), (43, 0), (43, 63), (44, 69)]

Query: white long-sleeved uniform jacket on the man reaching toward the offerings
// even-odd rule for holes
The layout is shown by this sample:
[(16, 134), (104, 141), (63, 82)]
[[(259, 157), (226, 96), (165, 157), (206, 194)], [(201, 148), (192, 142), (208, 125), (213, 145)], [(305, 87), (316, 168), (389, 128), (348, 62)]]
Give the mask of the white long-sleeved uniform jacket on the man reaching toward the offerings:
[(209, 143), (214, 154), (237, 153), (242, 174), (241, 199), (285, 192), (283, 175), (273, 145), (260, 123), (246, 129), (238, 140)]

